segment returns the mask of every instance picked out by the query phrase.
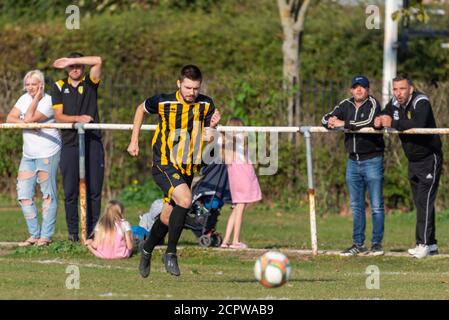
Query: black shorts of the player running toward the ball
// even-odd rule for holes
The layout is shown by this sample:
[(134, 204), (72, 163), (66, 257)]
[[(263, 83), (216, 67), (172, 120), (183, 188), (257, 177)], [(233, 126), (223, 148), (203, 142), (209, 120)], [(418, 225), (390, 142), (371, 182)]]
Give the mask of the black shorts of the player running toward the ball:
[(162, 166), (160, 164), (154, 164), (151, 170), (153, 179), (159, 188), (164, 192), (164, 202), (175, 205), (171, 199), (173, 190), (180, 184), (187, 184), (190, 188), (192, 185), (193, 175), (188, 176), (182, 174), (181, 171), (173, 166)]

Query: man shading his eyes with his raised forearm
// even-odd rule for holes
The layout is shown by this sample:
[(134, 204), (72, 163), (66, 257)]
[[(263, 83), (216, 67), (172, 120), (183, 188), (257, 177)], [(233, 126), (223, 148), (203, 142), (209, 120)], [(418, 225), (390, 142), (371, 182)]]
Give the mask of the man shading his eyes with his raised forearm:
[[(92, 65), (84, 74), (85, 65)], [(101, 78), (100, 57), (84, 57), (71, 53), (67, 58), (57, 59), (53, 66), (65, 69), (67, 78), (53, 85), (52, 101), (57, 122), (100, 122), (98, 116), (97, 89)], [(104, 149), (99, 130), (87, 130), (86, 142), (86, 205), (87, 235), (92, 237), (101, 211), (101, 191), (104, 178)], [(79, 241), (79, 147), (76, 130), (62, 131), (61, 172), (64, 187), (64, 206), (68, 239)]]

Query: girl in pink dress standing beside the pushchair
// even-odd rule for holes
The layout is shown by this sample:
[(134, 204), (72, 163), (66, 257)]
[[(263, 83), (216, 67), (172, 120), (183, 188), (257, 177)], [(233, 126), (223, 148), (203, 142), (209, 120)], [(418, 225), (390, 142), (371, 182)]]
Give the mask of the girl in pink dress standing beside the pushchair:
[[(231, 118), (228, 126), (243, 126), (239, 118)], [(232, 146), (232, 162), (227, 163), (229, 188), (231, 189), (232, 203), (234, 205), (226, 226), (222, 248), (245, 249), (247, 245), (240, 241), (240, 230), (243, 222), (243, 213), (250, 203), (260, 201), (262, 192), (257, 180), (253, 164), (249, 160), (248, 152), (245, 152), (245, 134), (235, 133), (231, 141), (225, 142), (225, 150)], [(234, 142), (232, 141), (232, 142)], [(231, 234), (234, 232), (231, 242)]]

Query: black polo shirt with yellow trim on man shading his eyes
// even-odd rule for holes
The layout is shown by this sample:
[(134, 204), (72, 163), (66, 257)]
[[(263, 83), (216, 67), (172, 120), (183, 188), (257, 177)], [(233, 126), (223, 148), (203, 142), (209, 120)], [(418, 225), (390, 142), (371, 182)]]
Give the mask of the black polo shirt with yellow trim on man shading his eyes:
[[(63, 108), (63, 113), (70, 116), (90, 115), (95, 123), (100, 122), (97, 105), (97, 89), (100, 81), (94, 81), (89, 74), (74, 87), (70, 79), (58, 80), (53, 84), (51, 98), (53, 108)], [(64, 145), (78, 145), (76, 130), (61, 130)], [(100, 130), (86, 130), (86, 139), (101, 139)]]

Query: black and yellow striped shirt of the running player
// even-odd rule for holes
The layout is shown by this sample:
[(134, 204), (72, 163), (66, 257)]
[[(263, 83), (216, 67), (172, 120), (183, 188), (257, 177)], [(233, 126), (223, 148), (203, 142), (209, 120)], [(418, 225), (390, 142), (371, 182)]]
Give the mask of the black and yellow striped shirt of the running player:
[(215, 111), (211, 98), (199, 95), (186, 104), (179, 91), (160, 94), (144, 102), (145, 111), (159, 115), (153, 137), (153, 164), (172, 165), (188, 176), (201, 165), (204, 128), (210, 126)]

